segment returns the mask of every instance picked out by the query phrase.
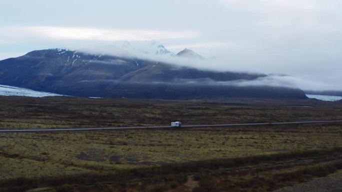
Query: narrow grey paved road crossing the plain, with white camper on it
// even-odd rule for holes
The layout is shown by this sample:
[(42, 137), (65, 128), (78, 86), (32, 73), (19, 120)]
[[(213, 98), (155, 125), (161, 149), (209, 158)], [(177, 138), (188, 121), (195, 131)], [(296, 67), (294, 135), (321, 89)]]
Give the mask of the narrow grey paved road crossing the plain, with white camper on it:
[[(286, 124), (317, 124), (317, 123), (342, 123), (339, 121), (299, 121), (299, 122), (276, 122), (276, 123), (240, 123), (240, 124), (218, 124), (218, 125), (183, 125), (182, 128), (195, 127), (233, 127), (233, 126), (259, 126), (259, 125), (286, 125)], [(170, 126), (145, 126), (145, 127), (106, 127), (106, 128), (64, 128), (64, 129), (3, 129), (0, 133), (17, 132), (57, 132), (57, 131), (100, 131), (100, 130), (122, 130), (122, 129), (163, 129)]]

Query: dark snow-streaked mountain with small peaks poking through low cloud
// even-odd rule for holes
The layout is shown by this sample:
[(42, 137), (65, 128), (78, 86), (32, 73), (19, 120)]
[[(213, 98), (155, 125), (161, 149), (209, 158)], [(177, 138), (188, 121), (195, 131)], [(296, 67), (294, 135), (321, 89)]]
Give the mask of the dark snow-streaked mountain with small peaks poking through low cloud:
[[(177, 55), (188, 53), (192, 54), (185, 49)], [(162, 61), (68, 49), (35, 50), (0, 61), (0, 84), (62, 95), (143, 99), (307, 98), (299, 89), (225, 83), (266, 76), (206, 71)]]

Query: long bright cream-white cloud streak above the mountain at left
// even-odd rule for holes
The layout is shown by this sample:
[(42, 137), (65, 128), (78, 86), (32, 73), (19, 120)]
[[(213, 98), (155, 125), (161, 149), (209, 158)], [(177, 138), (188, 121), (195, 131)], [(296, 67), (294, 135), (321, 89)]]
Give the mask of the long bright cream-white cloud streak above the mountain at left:
[[(78, 41), (145, 41), (193, 38), (195, 30), (145, 30), (62, 26), (0, 26), (0, 44), (26, 42)], [(52, 47), (51, 47), (52, 48)]]

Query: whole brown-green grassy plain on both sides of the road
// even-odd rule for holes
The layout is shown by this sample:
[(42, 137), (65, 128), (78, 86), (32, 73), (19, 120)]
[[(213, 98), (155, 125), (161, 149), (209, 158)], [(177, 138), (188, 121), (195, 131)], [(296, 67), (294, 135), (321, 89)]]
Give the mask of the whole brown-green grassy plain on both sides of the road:
[[(0, 100), (0, 129), (342, 119), (341, 103), (315, 100)], [(340, 169), (341, 128), (317, 124), (0, 133), (0, 191), (271, 191)], [(119, 174), (126, 179), (121, 181)]]

